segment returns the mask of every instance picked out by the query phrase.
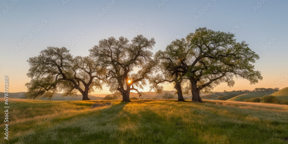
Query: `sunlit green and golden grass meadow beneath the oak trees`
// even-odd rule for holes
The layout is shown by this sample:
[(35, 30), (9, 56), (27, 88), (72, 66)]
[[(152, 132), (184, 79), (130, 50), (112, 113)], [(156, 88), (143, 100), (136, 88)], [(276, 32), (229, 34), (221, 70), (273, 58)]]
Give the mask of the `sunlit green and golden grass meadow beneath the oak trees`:
[[(287, 143), (288, 106), (230, 101), (10, 99), (0, 143)], [(93, 108), (93, 104), (111, 103)], [(0, 101), (4, 106), (4, 101)]]

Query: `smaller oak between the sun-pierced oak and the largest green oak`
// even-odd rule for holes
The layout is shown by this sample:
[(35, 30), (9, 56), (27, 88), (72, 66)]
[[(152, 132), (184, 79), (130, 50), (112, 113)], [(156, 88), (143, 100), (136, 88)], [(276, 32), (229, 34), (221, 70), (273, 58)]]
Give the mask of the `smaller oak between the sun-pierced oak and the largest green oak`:
[(181, 65), (181, 60), (183, 57), (187, 57), (188, 46), (184, 46), (182, 43), (180, 47), (177, 47), (176, 43), (181, 41), (173, 41), (170, 45), (166, 47), (165, 51), (159, 50), (155, 54), (155, 59), (157, 60), (158, 73), (156, 76), (150, 76), (149, 82), (151, 84), (150, 88), (154, 89), (156, 93), (161, 93), (163, 86), (158, 84), (163, 84), (165, 82), (173, 83), (174, 88), (177, 90), (178, 101), (185, 101), (183, 98), (182, 85), (187, 82), (185, 79), (185, 73), (178, 66)]

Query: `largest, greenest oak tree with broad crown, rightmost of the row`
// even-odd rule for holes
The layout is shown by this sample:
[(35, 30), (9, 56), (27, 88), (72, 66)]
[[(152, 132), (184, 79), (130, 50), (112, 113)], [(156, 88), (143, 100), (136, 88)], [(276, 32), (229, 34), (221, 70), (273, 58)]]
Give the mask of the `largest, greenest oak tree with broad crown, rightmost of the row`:
[[(177, 53), (180, 48), (184, 51)], [(250, 84), (262, 80), (260, 72), (254, 71), (251, 64), (259, 56), (245, 41), (236, 42), (232, 33), (199, 28), (186, 39), (173, 41), (166, 51), (171, 51), (167, 53), (171, 59), (177, 57), (179, 65), (175, 69), (181, 69), (189, 79), (194, 102), (202, 102), (201, 90), (212, 90), (222, 82), (233, 86), (233, 77), (248, 79)]]

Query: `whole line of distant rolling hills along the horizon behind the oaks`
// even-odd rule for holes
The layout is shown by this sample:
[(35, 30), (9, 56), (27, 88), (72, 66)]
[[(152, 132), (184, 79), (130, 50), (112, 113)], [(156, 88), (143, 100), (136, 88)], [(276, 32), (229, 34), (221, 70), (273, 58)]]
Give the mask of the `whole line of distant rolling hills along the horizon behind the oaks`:
[[(163, 96), (165, 93), (170, 93), (170, 94), (175, 94), (175, 90), (171, 90), (171, 91), (165, 91), (163, 90), (161, 94), (156, 94), (156, 92), (144, 92), (144, 94), (139, 98), (138, 94), (135, 92), (130, 92), (130, 98), (132, 97), (137, 97), (139, 99), (164, 99)], [(25, 92), (15, 92), (15, 93), (9, 93), (9, 98), (21, 98), (21, 99), (26, 99), (24, 97), (24, 93)], [(282, 90), (279, 90), (277, 92), (264, 92), (264, 91), (257, 91), (257, 92), (211, 92), (209, 94), (204, 94), (201, 93), (201, 98), (203, 100), (218, 100), (217, 98), (219, 96), (222, 96), (222, 98), (224, 98), (224, 100), (227, 101), (244, 101), (245, 99), (249, 99), (249, 98), (254, 98), (254, 97), (262, 97), (264, 95), (273, 95), (276, 96), (278, 99), (284, 99), (284, 100), (288, 100), (288, 87), (287, 88), (283, 88)], [(107, 94), (90, 94), (88, 95), (88, 97), (91, 100), (102, 100)], [(156, 97), (157, 96), (157, 97)], [(4, 97), (4, 93), (0, 92), (0, 97)], [(183, 94), (183, 97), (185, 100), (191, 100), (192, 99), (192, 95), (185, 95)], [(177, 99), (177, 95), (175, 95), (174, 99)], [(119, 97), (118, 99), (122, 99), (122, 97)], [(38, 98), (38, 100), (48, 100), (48, 98)], [(77, 94), (77, 96), (66, 96), (63, 97), (62, 94), (55, 94), (54, 97), (51, 98), (51, 101), (78, 101), (78, 100), (82, 100), (82, 95), (81, 94)]]

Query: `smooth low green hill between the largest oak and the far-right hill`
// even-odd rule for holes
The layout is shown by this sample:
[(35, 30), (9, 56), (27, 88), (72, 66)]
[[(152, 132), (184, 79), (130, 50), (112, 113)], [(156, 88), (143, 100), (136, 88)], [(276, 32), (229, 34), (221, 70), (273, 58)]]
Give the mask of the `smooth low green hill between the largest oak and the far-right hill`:
[(227, 101), (244, 101), (245, 99), (255, 98), (255, 97), (262, 97), (262, 96), (265, 96), (265, 95), (269, 95), (271, 93), (272, 92), (263, 92), (263, 91), (246, 92), (245, 94), (241, 94), (241, 95), (235, 96), (233, 98), (230, 98)]

